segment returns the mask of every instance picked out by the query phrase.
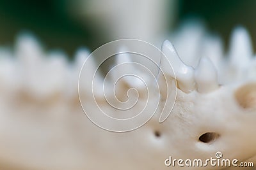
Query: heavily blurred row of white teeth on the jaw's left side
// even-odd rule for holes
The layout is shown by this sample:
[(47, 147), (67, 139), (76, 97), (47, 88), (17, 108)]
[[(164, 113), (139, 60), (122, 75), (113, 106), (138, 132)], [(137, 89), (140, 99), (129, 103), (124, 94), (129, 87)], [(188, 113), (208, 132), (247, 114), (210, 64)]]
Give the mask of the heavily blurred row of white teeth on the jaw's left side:
[(77, 96), (79, 71), (89, 54), (86, 48), (77, 50), (70, 64), (65, 53), (45, 53), (34, 36), (22, 34), (14, 52), (0, 49), (0, 90), (8, 95), (26, 92), (39, 100), (56, 94)]

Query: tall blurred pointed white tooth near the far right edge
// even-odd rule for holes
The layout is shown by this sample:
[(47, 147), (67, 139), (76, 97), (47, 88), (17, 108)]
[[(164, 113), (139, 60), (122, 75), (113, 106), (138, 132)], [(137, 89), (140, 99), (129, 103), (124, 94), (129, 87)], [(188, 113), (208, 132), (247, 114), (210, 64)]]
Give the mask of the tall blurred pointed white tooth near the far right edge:
[(243, 27), (237, 27), (232, 32), (230, 41), (230, 64), (238, 69), (244, 69), (253, 55), (250, 35)]

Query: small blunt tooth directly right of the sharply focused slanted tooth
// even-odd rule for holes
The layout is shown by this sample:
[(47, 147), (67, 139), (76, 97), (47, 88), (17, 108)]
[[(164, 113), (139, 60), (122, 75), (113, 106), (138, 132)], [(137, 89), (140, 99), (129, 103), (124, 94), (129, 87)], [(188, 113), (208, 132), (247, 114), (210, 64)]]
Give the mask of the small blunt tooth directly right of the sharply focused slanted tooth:
[(200, 59), (195, 69), (195, 81), (198, 92), (211, 92), (218, 89), (218, 75), (211, 60), (206, 57)]

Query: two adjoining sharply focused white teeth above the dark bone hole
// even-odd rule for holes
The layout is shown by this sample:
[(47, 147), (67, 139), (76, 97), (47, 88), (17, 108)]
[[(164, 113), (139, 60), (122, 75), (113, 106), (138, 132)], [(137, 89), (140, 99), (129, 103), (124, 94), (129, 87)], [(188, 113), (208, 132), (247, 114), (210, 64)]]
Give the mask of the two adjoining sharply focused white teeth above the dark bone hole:
[(211, 60), (206, 57), (201, 58), (198, 67), (194, 69), (182, 62), (172, 43), (164, 41), (162, 52), (170, 61), (173, 73), (170, 74), (177, 79), (180, 90), (188, 93), (196, 89), (198, 92), (209, 92), (218, 88), (218, 76)]

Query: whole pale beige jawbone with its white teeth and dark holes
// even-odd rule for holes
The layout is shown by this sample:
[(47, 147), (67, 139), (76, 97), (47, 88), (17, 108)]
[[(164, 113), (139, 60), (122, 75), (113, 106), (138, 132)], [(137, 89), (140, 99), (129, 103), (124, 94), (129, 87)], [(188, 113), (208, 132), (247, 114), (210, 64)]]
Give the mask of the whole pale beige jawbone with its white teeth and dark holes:
[[(188, 41), (195, 39), (193, 32), (190, 35)], [(176, 40), (179, 36), (182, 32)], [(172, 43), (164, 41), (163, 53), (177, 76), (177, 99), (170, 117), (159, 124), (157, 111), (136, 131), (115, 133), (92, 124), (79, 104), (77, 80), (88, 51), (78, 50), (74, 62), (68, 63), (62, 53), (44, 53), (35, 38), (20, 36), (14, 52), (0, 50), (0, 167), (183, 169), (166, 167), (164, 160), (170, 156), (205, 160), (215, 158), (216, 152), (225, 159), (255, 163), (256, 59), (248, 37), (243, 28), (235, 29), (228, 57), (215, 37), (202, 38), (198, 45), (209, 45), (202, 55), (210, 55), (189, 53), (194, 59), (179, 56)], [(174, 75), (166, 74), (173, 81)], [(124, 81), (124, 89), (132, 84)], [(82, 83), (80, 95), (86, 95), (90, 82)], [(149, 99), (148, 104), (154, 102)]]

